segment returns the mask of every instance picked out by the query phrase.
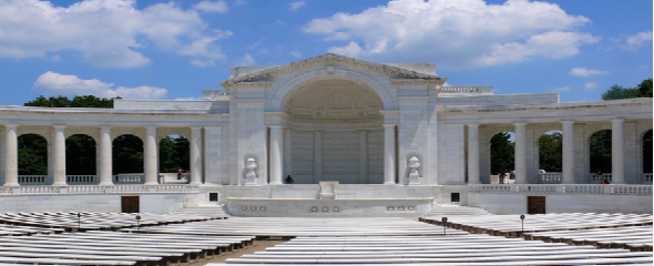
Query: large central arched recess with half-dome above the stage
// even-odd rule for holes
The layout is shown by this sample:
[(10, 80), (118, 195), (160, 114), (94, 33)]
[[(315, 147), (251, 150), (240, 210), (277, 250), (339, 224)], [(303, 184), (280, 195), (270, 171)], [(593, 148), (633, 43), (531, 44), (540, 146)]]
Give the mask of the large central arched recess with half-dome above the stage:
[(381, 110), (379, 95), (358, 81), (318, 79), (293, 89), (282, 102), (292, 130), (287, 174), (295, 184), (382, 184)]

